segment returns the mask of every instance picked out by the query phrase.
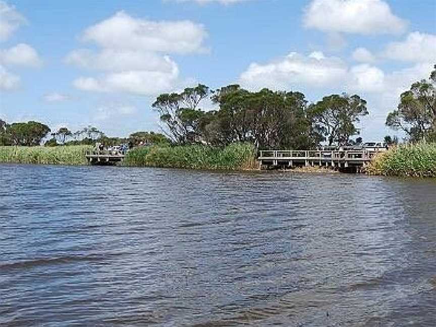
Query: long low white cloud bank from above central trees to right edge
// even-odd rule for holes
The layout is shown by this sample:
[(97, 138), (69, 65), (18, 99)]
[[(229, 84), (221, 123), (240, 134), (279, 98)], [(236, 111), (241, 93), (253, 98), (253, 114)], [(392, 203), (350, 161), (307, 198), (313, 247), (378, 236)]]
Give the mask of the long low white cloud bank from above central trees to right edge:
[(239, 83), (249, 89), (325, 89), (337, 92), (373, 93), (395, 98), (419, 79), (427, 78), (432, 64), (415, 66), (386, 73), (370, 64), (347, 65), (336, 57), (325, 57), (315, 51), (308, 56), (297, 52), (265, 64), (252, 63), (240, 75)]

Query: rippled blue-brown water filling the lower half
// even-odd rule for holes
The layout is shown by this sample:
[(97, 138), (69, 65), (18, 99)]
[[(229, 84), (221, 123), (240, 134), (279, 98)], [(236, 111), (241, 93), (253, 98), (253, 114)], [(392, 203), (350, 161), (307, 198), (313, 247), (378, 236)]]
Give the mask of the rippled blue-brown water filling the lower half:
[(0, 325), (434, 326), (436, 181), (0, 166)]

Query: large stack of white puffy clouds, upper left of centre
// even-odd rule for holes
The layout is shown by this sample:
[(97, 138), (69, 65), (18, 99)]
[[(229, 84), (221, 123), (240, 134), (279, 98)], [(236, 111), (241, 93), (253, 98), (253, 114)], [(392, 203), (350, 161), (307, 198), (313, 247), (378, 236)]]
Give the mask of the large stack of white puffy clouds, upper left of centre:
[(178, 65), (166, 53), (203, 52), (206, 36), (202, 25), (190, 21), (154, 22), (119, 12), (84, 31), (82, 40), (99, 50), (73, 50), (65, 61), (104, 72), (77, 78), (73, 85), (78, 89), (155, 95), (180, 82)]

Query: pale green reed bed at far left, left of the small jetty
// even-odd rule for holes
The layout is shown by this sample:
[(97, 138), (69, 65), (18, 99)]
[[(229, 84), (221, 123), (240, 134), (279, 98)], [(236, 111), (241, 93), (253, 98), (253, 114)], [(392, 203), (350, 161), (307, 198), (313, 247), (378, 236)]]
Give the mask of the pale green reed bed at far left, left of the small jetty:
[(0, 162), (86, 165), (85, 152), (92, 148), (91, 145), (0, 146)]

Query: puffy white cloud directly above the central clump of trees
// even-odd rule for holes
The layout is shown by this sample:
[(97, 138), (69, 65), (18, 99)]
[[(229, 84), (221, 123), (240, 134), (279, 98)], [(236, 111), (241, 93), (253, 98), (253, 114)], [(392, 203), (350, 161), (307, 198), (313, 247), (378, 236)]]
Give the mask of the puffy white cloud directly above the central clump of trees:
[(241, 74), (240, 83), (248, 88), (292, 88), (301, 84), (323, 87), (338, 83), (346, 74), (347, 67), (339, 58), (326, 58), (318, 51), (307, 57), (291, 52), (288, 56), (267, 64), (252, 63)]

